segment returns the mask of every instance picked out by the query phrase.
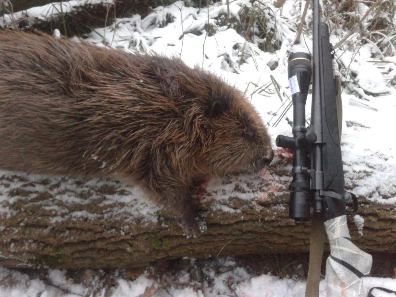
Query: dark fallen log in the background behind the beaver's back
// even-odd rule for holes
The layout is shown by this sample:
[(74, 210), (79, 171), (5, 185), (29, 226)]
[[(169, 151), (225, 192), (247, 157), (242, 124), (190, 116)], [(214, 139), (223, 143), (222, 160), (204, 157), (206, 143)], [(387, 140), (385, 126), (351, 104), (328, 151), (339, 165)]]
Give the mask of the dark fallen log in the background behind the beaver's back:
[[(56, 6), (58, 2), (63, 2), (63, 9)], [(53, 34), (53, 31), (58, 29), (62, 35), (71, 37), (74, 35), (82, 36), (91, 32), (93, 28), (110, 26), (114, 23), (116, 17), (128, 17), (137, 13), (144, 18), (152, 11), (152, 8), (162, 5), (162, 2), (156, 0), (114, 0), (112, 3), (94, 4), (87, 1), (87, 4), (82, 2), (82, 4), (72, 7), (69, 11), (67, 2), (58, 2), (54, 0), (15, 0), (11, 1), (12, 6), (0, 5), (0, 16), (10, 14), (12, 11), (22, 11), (22, 13), (13, 17), (11, 23), (6, 23), (5, 27), (31, 31), (39, 30), (48, 34)], [(171, 2), (173, 1), (170, 1), (169, 4)], [(33, 12), (29, 11), (29, 8), (47, 4), (51, 4), (52, 7), (44, 15), (35, 15), (39, 11), (37, 9)]]

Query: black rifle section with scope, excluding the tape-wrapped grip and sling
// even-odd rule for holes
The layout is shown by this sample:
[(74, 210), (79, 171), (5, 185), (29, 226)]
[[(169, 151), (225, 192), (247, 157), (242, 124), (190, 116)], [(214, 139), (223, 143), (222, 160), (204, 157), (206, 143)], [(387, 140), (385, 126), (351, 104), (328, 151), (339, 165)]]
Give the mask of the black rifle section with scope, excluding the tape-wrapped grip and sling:
[(309, 219), (312, 204), (316, 213), (324, 214), (325, 220), (345, 215), (346, 203), (353, 201), (354, 213), (357, 209), (356, 196), (344, 189), (333, 48), (327, 25), (319, 23), (318, 1), (313, 2), (313, 13), (310, 126), (305, 127), (305, 103), (311, 78), (311, 58), (307, 53), (292, 53), (288, 77), (293, 100), (293, 137), (278, 135), (276, 138), (278, 147), (293, 150), (289, 216), (295, 220)]

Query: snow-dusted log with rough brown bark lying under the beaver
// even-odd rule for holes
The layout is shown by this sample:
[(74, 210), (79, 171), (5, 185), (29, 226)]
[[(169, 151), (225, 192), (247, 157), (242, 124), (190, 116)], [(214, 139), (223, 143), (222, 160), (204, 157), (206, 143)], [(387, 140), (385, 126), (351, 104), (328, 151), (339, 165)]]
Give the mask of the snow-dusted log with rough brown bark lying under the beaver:
[[(159, 259), (307, 252), (309, 223), (288, 218), (290, 153), (255, 175), (211, 179), (195, 189), (208, 231), (186, 238), (171, 217), (118, 181), (84, 181), (0, 171), (0, 265), (132, 268)], [(396, 209), (360, 197), (367, 252), (394, 252)]]

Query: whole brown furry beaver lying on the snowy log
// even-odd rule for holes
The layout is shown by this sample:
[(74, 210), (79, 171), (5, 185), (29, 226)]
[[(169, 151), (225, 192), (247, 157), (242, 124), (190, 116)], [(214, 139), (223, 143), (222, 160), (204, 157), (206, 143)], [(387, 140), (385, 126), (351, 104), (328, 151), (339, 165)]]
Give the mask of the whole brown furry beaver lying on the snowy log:
[(140, 185), (199, 236), (193, 185), (272, 157), (242, 93), (181, 59), (0, 33), (2, 169)]

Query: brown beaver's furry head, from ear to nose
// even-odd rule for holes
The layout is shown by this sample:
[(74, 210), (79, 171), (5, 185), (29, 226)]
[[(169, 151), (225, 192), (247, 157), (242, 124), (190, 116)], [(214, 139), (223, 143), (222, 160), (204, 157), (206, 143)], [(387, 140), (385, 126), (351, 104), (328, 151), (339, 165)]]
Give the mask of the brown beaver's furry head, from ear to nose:
[(274, 156), (271, 139), (255, 108), (221, 80), (212, 79), (209, 86), (211, 94), (203, 106), (208, 137), (202, 159), (219, 175), (269, 165)]

